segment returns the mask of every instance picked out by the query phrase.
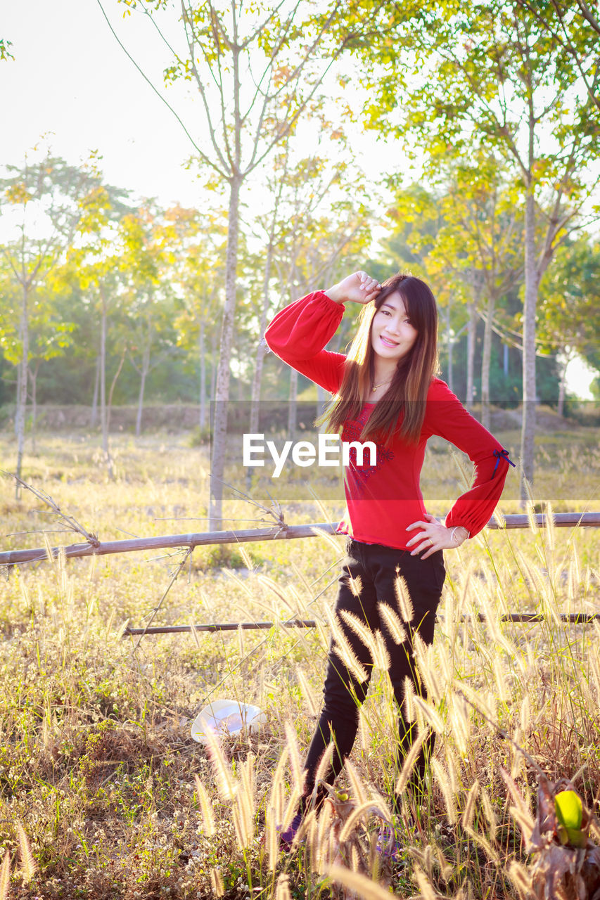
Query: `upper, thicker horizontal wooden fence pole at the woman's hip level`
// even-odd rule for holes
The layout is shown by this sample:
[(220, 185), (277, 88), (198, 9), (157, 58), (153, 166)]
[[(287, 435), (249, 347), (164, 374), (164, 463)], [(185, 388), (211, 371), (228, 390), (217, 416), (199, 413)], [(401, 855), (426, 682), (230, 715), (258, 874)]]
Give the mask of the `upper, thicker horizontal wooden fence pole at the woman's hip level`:
[[(538, 513), (534, 517), (537, 527), (546, 527), (548, 517)], [(600, 526), (600, 512), (559, 512), (554, 513), (552, 521), (555, 527), (597, 527)], [(130, 554), (140, 550), (165, 550), (174, 547), (200, 547), (210, 544), (248, 544), (258, 541), (293, 540), (299, 537), (314, 537), (315, 531), (334, 535), (337, 523), (317, 522), (311, 525), (275, 525), (268, 528), (246, 528), (239, 531), (207, 531), (192, 532), (186, 535), (164, 535), (160, 537), (136, 537), (124, 541), (99, 541), (70, 544), (64, 547), (52, 547), (50, 553), (56, 558), (63, 553), (70, 559), (79, 556), (104, 556), (106, 554)], [(488, 528), (529, 528), (530, 518), (525, 515), (505, 516), (502, 519), (491, 518)], [(48, 559), (45, 547), (32, 550), (7, 550), (0, 553), (0, 565), (16, 563), (41, 563)]]

